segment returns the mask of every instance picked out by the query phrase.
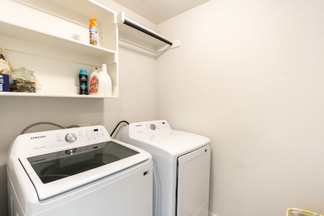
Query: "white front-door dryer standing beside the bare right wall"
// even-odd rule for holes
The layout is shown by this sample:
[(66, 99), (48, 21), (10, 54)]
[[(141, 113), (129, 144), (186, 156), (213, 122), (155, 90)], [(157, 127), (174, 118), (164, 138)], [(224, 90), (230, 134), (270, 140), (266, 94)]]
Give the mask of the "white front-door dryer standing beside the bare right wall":
[(208, 215), (210, 139), (157, 120), (127, 125), (121, 141), (152, 155), (154, 216)]

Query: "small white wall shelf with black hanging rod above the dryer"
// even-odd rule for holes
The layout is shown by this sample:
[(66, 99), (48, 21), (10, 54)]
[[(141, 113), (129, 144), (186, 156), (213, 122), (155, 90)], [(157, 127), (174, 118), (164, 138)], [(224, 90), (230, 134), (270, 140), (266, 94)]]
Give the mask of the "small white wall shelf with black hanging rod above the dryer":
[(119, 40), (123, 40), (149, 50), (153, 53), (159, 53), (165, 50), (180, 46), (180, 40), (170, 40), (151, 29), (127, 18), (125, 12), (121, 11), (116, 16), (118, 25)]

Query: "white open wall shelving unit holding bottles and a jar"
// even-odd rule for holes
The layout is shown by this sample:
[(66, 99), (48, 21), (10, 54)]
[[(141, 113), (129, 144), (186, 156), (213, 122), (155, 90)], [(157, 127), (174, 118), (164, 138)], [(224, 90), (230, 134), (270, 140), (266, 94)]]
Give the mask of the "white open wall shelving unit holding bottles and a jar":
[[(0, 92), (0, 96), (118, 97), (118, 38), (113, 11), (92, 0), (5, 0), (2, 5), (0, 45), (12, 66), (34, 71), (42, 87), (37, 93)], [(85, 9), (87, 13), (83, 13)], [(95, 15), (98, 46), (89, 44), (89, 19)], [(108, 67), (112, 96), (78, 95), (78, 70), (85, 68), (90, 75), (93, 67), (101, 64)]]

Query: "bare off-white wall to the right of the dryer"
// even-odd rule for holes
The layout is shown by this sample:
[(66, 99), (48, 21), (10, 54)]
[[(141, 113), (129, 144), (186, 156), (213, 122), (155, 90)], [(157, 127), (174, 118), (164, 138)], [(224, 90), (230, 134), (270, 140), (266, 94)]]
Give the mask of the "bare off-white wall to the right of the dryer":
[(157, 118), (212, 140), (210, 211), (324, 213), (324, 1), (211, 0), (158, 25)]

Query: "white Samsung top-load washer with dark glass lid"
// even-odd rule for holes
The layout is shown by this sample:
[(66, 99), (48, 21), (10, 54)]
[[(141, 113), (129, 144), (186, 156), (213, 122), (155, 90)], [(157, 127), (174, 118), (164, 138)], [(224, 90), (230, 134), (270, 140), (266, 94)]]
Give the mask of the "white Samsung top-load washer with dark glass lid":
[(87, 126), (23, 134), (7, 163), (11, 216), (152, 215), (152, 158)]

